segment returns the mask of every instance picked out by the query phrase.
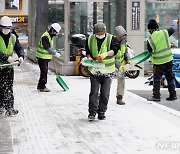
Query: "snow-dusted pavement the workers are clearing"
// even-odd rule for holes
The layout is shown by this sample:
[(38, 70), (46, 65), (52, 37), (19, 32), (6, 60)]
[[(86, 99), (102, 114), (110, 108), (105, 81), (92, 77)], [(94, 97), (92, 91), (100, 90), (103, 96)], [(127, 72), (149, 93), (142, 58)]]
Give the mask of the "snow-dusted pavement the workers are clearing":
[(69, 91), (49, 71), (50, 93), (36, 90), (37, 64), (28, 60), (15, 67), (15, 117), (0, 118), (0, 154), (179, 154), (180, 114), (128, 90), (145, 87), (145, 78), (126, 79), (125, 102), (116, 102), (113, 79), (107, 119), (89, 122), (90, 82), (80, 76), (63, 76)]

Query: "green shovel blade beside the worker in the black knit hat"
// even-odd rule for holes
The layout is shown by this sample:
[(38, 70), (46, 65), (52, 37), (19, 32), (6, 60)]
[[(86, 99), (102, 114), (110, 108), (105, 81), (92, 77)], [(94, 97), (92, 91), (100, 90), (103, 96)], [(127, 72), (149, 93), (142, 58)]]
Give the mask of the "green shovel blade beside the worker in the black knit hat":
[(136, 64), (140, 64), (151, 57), (151, 54), (146, 50), (130, 59), (131, 62), (135, 61)]

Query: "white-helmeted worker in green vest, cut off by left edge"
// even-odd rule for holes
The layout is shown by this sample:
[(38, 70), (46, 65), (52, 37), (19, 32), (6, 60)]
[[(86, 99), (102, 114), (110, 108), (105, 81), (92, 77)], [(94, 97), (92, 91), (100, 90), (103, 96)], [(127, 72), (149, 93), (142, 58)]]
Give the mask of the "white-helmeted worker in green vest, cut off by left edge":
[[(11, 33), (12, 22), (8, 16), (0, 19), (0, 115), (13, 116), (18, 114), (14, 108), (13, 81), (15, 59), (18, 56), (20, 66), (24, 60), (24, 50), (18, 38)], [(7, 67), (4, 67), (4, 66)]]

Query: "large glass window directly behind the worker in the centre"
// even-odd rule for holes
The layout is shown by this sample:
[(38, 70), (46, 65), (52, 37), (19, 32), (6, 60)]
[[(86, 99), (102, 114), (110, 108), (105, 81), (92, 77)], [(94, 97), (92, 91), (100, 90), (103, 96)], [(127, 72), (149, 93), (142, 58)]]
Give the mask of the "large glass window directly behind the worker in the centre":
[[(113, 33), (116, 25), (116, 5), (114, 2), (71, 2), (70, 39), (74, 34), (93, 34), (96, 23), (105, 23), (108, 33)], [(78, 55), (76, 47), (70, 45), (70, 60)]]

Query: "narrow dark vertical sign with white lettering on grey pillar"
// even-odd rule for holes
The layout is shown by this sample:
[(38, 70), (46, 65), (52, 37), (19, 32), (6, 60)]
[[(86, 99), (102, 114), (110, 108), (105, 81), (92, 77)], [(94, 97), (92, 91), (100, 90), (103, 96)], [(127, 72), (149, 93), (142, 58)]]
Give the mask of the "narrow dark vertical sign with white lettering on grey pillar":
[(132, 30), (140, 30), (140, 2), (132, 2)]

